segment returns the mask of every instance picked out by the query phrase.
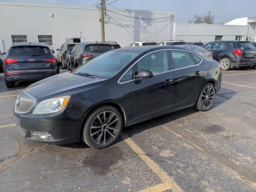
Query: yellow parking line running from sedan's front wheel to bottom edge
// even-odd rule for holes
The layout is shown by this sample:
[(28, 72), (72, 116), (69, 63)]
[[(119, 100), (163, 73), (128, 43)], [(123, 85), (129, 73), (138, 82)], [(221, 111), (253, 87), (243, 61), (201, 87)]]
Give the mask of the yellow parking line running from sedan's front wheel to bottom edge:
[(168, 176), (168, 174), (164, 170), (162, 170), (162, 168), (160, 168), (158, 164), (150, 159), (133, 140), (131, 140), (126, 134), (124, 134), (124, 132), (121, 132), (121, 137), (130, 146), (130, 148), (132, 148), (132, 150), (134, 150), (134, 152), (158, 175), (158, 177), (164, 182), (164, 184), (168, 185), (168, 189), (171, 189), (174, 192), (183, 192), (178, 184), (176, 184), (176, 182), (172, 180), (170, 176)]

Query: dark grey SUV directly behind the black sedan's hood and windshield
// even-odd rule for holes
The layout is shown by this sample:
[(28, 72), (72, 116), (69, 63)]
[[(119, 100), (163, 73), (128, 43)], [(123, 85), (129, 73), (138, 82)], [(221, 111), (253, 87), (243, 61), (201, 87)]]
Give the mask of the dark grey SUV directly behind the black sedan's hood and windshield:
[(113, 50), (110, 43), (105, 42), (82, 42), (77, 43), (67, 57), (68, 71), (81, 66), (92, 58), (99, 56), (104, 52)]

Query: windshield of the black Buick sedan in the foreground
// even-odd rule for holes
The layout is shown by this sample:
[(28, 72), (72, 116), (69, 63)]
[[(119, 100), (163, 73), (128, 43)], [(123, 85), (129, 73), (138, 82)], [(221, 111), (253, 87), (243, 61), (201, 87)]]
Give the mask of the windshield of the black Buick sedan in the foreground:
[(74, 73), (87, 73), (98, 78), (110, 78), (117, 74), (128, 62), (132, 61), (138, 53), (126, 51), (106, 52), (80, 66)]

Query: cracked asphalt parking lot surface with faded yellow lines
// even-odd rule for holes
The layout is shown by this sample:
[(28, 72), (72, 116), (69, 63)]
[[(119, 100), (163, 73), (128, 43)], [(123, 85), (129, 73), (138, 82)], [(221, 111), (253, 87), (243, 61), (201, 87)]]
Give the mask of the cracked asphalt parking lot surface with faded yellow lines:
[(96, 150), (20, 136), (13, 107), (30, 82), (8, 89), (0, 73), (0, 191), (256, 191), (256, 70), (222, 74), (210, 111), (189, 108), (136, 124)]

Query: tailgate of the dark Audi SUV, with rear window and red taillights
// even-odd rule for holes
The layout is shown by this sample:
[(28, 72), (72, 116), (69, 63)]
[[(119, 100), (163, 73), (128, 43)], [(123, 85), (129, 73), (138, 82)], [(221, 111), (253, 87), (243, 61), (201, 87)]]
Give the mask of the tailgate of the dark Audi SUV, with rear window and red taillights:
[(10, 48), (6, 67), (10, 71), (52, 70), (56, 58), (44, 46), (14, 46)]

